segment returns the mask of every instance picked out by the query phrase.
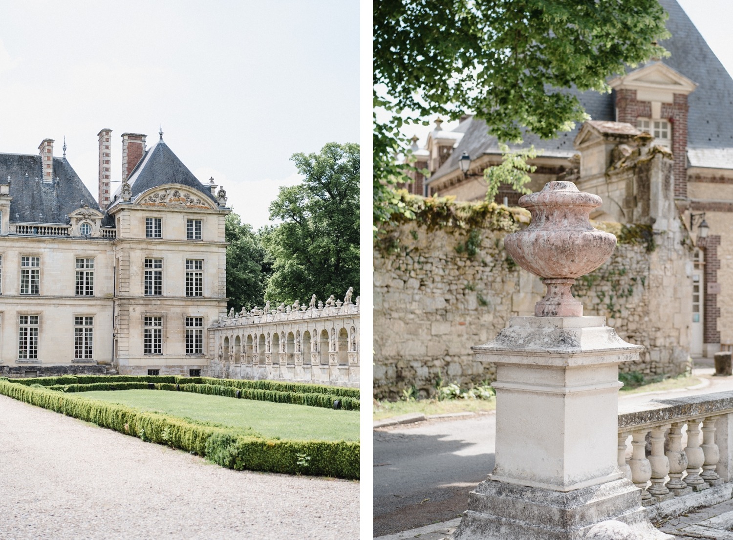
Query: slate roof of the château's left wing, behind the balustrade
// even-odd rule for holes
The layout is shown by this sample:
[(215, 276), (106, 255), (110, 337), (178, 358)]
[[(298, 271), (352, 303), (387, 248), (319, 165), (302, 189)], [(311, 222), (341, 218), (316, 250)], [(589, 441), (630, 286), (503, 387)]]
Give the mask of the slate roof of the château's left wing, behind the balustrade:
[(44, 184), (40, 155), (0, 154), (0, 183), (6, 184), (8, 177), (12, 222), (66, 224), (70, 212), (84, 204), (99, 210), (66, 158), (54, 158), (54, 182)]

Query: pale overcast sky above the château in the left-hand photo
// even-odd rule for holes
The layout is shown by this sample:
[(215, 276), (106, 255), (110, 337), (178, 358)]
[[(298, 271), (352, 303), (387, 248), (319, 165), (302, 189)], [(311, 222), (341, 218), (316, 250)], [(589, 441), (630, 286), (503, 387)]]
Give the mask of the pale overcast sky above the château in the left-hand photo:
[[(53, 138), (97, 196), (97, 133), (163, 139), (255, 229), (295, 152), (358, 142), (358, 0), (5, 1), (0, 152)], [(119, 182), (113, 182), (112, 189)]]

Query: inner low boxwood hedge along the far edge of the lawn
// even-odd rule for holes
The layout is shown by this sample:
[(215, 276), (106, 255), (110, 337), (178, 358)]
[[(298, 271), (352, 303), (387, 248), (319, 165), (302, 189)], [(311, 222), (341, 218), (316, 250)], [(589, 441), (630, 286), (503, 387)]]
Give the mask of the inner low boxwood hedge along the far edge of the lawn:
[[(183, 379), (188, 380), (188, 379)], [(213, 379), (218, 380), (218, 379)], [(257, 390), (253, 388), (236, 388), (235, 386), (211, 385), (211, 384), (181, 384), (174, 385), (171, 382), (153, 383), (155, 390), (175, 391), (180, 389), (183, 392), (204, 393), (210, 396), (237, 397), (237, 390), (243, 399), (254, 399), (260, 402), (290, 403), (294, 405), (309, 405), (310, 407), (334, 407), (334, 402), (344, 410), (359, 410), (358, 399), (342, 396), (332, 396), (325, 393), (295, 393), (278, 392), (272, 390)], [(178, 388), (176, 388), (178, 387)], [(49, 390), (62, 391), (67, 393), (112, 391), (112, 390), (143, 390), (150, 388), (149, 382), (95, 382), (87, 385), (51, 385)]]

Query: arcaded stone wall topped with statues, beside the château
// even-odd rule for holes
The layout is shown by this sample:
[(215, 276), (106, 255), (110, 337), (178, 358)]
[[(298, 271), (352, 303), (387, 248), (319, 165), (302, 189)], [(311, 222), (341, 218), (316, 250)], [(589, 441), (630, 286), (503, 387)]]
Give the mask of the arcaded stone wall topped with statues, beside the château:
[(281, 305), (221, 317), (210, 328), (210, 374), (358, 388), (360, 300)]

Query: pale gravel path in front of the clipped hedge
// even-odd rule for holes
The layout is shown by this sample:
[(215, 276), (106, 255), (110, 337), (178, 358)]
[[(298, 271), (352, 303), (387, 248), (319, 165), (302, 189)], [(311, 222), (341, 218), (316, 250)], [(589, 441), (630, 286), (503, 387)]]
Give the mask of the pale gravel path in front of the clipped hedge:
[(0, 539), (358, 539), (359, 484), (228, 470), (0, 396)]

